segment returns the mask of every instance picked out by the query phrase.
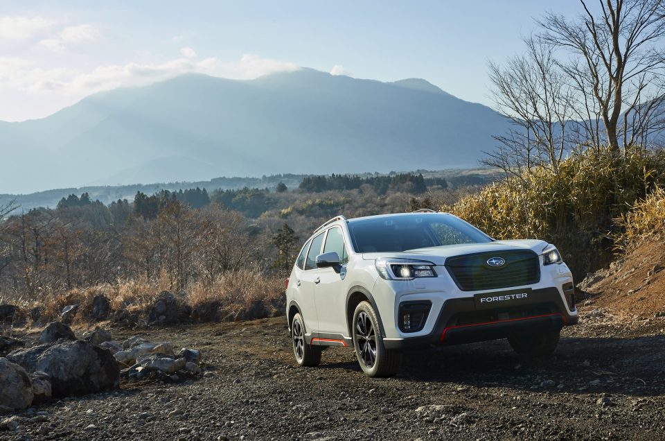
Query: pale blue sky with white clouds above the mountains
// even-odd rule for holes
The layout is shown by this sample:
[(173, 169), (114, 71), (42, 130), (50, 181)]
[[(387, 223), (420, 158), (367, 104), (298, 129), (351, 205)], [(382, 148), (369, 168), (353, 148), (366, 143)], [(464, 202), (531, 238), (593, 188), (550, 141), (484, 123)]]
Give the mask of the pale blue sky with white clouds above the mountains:
[(0, 121), (197, 71), (251, 79), (310, 67), (424, 78), (492, 105), (487, 64), (523, 49), (533, 17), (578, 0), (0, 0)]

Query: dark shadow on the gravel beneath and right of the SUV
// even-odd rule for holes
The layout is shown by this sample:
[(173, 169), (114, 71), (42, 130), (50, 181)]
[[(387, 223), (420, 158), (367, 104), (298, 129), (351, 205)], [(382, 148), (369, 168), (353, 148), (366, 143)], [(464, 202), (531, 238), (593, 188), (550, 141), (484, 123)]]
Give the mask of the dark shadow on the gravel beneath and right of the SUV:
[[(665, 393), (665, 336), (561, 338), (549, 357), (516, 354), (506, 340), (405, 352), (401, 381), (511, 388), (536, 392)], [(355, 356), (321, 367), (361, 372)], [(352, 358), (353, 357), (353, 358)]]

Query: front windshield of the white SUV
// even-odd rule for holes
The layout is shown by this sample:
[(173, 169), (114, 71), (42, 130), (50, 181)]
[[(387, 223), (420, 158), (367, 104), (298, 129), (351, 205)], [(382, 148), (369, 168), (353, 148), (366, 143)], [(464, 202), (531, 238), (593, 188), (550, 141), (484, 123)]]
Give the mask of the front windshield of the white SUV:
[(400, 252), (418, 248), (491, 242), (469, 223), (447, 214), (387, 216), (348, 223), (356, 252)]

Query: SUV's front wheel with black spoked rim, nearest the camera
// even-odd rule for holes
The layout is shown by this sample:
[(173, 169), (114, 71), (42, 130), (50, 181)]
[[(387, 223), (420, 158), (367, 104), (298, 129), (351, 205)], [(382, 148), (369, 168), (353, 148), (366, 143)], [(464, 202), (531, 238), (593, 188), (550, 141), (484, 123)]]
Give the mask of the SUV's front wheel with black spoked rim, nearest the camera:
[(392, 377), (400, 369), (402, 354), (384, 347), (379, 320), (369, 302), (360, 302), (353, 313), (353, 347), (367, 377)]

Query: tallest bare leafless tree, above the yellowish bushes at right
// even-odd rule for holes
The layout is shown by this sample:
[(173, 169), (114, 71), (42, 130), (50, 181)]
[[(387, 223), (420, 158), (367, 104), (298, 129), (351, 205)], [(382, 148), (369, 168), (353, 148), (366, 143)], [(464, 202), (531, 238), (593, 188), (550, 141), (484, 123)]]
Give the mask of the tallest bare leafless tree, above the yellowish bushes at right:
[(553, 12), (539, 19), (539, 38), (563, 50), (559, 65), (576, 88), (576, 118), (587, 139), (618, 153), (665, 126), (665, 0), (580, 3), (576, 19)]

